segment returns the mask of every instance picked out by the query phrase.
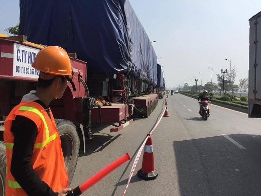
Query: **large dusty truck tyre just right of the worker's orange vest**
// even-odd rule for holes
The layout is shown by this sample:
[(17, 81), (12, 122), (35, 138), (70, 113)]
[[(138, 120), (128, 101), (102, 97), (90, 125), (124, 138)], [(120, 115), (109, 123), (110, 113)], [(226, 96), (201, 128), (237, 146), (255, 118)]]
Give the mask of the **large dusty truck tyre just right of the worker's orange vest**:
[(68, 120), (55, 119), (60, 134), (65, 167), (69, 176), (69, 185), (76, 169), (80, 149), (80, 139), (75, 125)]

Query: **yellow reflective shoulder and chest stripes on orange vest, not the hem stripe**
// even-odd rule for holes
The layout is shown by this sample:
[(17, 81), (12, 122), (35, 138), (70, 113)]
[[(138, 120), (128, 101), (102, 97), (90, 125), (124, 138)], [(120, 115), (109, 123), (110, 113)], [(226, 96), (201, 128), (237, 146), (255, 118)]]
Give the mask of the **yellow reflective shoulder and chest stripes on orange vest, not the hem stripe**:
[[(55, 140), (55, 138), (58, 136), (57, 133), (53, 134), (52, 136), (49, 136), (49, 129), (48, 129), (47, 123), (46, 123), (46, 121), (44, 119), (43, 114), (39, 110), (37, 110), (37, 109), (35, 109), (33, 107), (27, 107), (27, 106), (22, 106), (19, 110), (34, 112), (34, 113), (38, 114), (41, 117), (41, 119), (42, 119), (42, 121), (44, 123), (46, 140), (44, 142), (42, 142), (42, 143), (35, 143), (35, 145), (34, 145), (35, 148), (42, 148), (42, 147), (44, 147), (49, 142)], [(13, 149), (13, 146), (14, 146), (13, 143), (6, 143), (6, 148), (8, 148), (8, 149)]]

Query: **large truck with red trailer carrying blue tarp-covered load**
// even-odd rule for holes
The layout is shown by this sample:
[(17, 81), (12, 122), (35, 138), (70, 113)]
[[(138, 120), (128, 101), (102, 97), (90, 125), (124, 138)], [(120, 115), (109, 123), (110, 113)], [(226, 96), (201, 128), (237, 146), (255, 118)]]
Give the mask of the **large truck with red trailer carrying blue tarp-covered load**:
[(4, 121), (36, 88), (39, 72), (31, 64), (42, 48), (63, 47), (74, 67), (76, 91), (68, 84), (62, 99), (50, 104), (69, 182), (79, 152), (93, 138), (93, 123), (113, 121), (118, 127), (110, 131), (119, 131), (133, 115), (148, 118), (158, 104), (157, 56), (131, 4), (66, 0), (62, 5), (20, 0), (19, 36), (0, 34), (0, 90), (5, 92), (0, 96), (0, 195), (5, 195)]

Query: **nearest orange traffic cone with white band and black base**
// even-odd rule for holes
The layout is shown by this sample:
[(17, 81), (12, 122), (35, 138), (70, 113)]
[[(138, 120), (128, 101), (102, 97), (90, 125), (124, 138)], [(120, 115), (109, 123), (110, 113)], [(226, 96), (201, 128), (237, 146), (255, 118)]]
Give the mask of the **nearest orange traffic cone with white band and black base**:
[(149, 138), (144, 147), (142, 169), (140, 169), (137, 174), (142, 179), (152, 180), (152, 179), (156, 179), (159, 173), (154, 168), (152, 138), (150, 134), (148, 134), (148, 136)]

